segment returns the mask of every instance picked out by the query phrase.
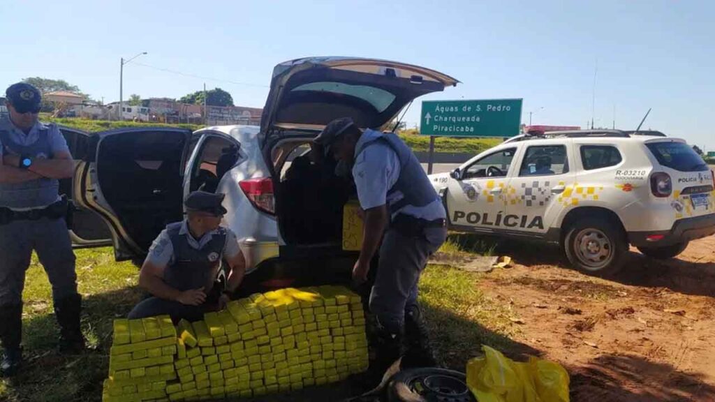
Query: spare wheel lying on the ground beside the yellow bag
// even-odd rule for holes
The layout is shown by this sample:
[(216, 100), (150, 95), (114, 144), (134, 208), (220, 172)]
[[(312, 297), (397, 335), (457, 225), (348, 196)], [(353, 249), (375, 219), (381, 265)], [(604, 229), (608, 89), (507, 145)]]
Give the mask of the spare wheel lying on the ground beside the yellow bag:
[(389, 402), (475, 402), (464, 373), (444, 368), (400, 371), (388, 383)]

